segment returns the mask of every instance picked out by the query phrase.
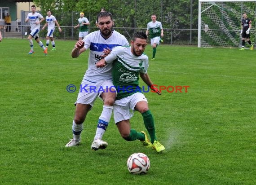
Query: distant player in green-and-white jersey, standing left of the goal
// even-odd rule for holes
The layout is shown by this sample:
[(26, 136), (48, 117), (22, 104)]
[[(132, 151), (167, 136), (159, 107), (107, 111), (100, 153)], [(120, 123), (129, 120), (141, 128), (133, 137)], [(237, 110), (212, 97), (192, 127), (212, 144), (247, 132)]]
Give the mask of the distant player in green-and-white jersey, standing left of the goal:
[(161, 37), (163, 37), (163, 26), (162, 23), (156, 20), (156, 15), (151, 15), (152, 21), (147, 24), (146, 35), (150, 36), (150, 43), (153, 48), (153, 57), (151, 60), (154, 60), (156, 47), (162, 41)]

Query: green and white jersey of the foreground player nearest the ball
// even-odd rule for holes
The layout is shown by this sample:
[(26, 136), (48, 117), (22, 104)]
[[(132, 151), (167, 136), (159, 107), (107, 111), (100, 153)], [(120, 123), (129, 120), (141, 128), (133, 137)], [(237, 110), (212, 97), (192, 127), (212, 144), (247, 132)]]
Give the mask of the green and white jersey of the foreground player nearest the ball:
[[(139, 87), (139, 73), (147, 73), (148, 57), (132, 54), (131, 46), (117, 46), (105, 57), (106, 63), (113, 63), (112, 79), (117, 90), (116, 100), (142, 92)], [(108, 64), (109, 65), (109, 64)]]

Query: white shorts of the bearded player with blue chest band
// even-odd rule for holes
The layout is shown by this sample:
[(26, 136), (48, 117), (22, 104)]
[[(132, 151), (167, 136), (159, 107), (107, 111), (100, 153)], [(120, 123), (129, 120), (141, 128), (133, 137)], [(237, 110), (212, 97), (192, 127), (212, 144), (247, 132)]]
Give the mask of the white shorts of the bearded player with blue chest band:
[[(81, 104), (93, 106), (93, 103), (97, 97), (102, 99), (100, 96), (106, 88), (115, 89), (112, 83), (112, 80), (93, 83), (83, 79), (79, 88), (79, 93), (78, 93), (77, 100), (75, 101), (75, 105), (77, 103), (81, 103)], [(111, 92), (116, 93), (116, 89), (111, 90)]]

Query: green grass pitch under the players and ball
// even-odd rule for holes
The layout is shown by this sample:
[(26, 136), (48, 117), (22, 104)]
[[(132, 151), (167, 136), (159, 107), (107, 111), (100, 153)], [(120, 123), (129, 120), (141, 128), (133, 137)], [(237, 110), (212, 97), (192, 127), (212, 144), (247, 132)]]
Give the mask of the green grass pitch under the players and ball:
[[(0, 43), (0, 184), (256, 184), (256, 51), (159, 45), (149, 62), (154, 84), (190, 86), (187, 93), (145, 93), (166, 150), (125, 141), (111, 118), (103, 137), (109, 146), (94, 151), (100, 100), (81, 144), (65, 148), (78, 93), (66, 86), (79, 88), (88, 51), (71, 58), (76, 41), (55, 41), (47, 56), (35, 41), (32, 55), (26, 39)], [(152, 57), (150, 44), (145, 53)], [(131, 125), (145, 130), (138, 112)], [(150, 158), (148, 174), (129, 174), (126, 161), (135, 152)]]

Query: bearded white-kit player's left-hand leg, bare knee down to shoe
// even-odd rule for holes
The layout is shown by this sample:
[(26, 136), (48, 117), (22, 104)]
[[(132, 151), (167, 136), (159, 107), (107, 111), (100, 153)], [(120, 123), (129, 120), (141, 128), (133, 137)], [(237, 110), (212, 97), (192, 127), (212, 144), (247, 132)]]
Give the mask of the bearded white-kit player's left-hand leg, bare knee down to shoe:
[(73, 138), (66, 144), (66, 147), (79, 145), (81, 141), (81, 132), (84, 128), (84, 120), (92, 106), (77, 103), (75, 107), (75, 117), (72, 123)]

